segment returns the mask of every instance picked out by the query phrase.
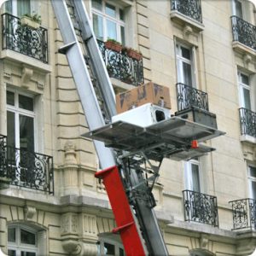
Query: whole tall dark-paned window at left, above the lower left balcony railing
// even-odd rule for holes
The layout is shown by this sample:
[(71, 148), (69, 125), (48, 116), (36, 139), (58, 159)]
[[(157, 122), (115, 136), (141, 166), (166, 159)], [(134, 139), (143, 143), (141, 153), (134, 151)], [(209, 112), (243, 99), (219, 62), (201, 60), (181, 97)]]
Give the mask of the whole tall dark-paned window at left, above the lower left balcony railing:
[(9, 147), (34, 152), (34, 99), (7, 90), (7, 140)]

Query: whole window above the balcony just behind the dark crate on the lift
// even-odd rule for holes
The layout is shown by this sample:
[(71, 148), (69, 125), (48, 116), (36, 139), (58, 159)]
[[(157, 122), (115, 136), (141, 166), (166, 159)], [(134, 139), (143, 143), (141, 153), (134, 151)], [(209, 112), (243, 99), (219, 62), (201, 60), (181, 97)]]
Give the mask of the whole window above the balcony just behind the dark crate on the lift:
[(177, 83), (195, 86), (193, 50), (183, 44), (176, 44)]

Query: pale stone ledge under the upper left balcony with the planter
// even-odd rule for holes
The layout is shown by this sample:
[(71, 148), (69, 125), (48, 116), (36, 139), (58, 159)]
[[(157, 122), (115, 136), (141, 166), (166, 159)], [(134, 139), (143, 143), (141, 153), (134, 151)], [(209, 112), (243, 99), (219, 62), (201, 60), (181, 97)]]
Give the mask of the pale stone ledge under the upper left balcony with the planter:
[(1, 52), (0, 59), (6, 59), (9, 61), (15, 61), (18, 63), (27, 64), (33, 67), (33, 69), (38, 70), (43, 73), (50, 73), (52, 72), (52, 67), (49, 64), (45, 64), (42, 61), (38, 61), (33, 59), (30, 56), (22, 55), (17, 53), (11, 49), (4, 49)]

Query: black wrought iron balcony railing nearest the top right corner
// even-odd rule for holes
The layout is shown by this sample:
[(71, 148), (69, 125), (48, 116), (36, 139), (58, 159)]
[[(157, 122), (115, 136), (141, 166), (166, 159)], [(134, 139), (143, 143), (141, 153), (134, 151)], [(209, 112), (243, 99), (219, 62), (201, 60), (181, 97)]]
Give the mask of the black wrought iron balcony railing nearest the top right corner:
[(256, 50), (256, 26), (237, 16), (231, 16), (233, 41)]

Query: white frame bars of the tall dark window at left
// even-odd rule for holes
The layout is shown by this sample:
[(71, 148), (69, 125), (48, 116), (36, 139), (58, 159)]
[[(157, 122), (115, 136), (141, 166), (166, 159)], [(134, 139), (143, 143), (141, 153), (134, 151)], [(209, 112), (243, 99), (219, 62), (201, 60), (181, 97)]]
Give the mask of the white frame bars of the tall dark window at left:
[[(38, 143), (37, 143), (37, 130), (36, 129), (36, 104), (35, 97), (32, 94), (20, 92), (19, 90), (8, 89), (7, 91), (13, 92), (15, 94), (15, 106), (6, 104), (6, 110), (12, 113), (15, 113), (15, 148), (20, 148), (20, 114), (26, 115), (33, 119), (33, 130), (34, 130), (34, 152), (37, 151)], [(7, 94), (6, 91), (6, 94)], [(33, 111), (26, 110), (23, 108), (19, 108), (19, 95), (27, 96), (33, 99)]]

